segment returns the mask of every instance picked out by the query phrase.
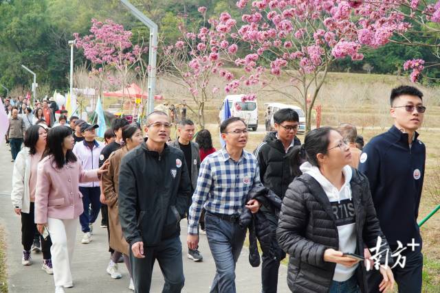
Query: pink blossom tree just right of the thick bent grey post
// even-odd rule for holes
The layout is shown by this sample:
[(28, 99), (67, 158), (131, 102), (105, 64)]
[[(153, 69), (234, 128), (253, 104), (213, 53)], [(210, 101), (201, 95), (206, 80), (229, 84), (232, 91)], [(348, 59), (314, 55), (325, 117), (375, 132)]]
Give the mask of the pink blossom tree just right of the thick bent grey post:
[[(223, 78), (228, 83), (226, 91), (230, 91), (234, 75), (223, 65), (233, 60), (232, 56), (236, 54), (238, 46), (227, 40), (224, 32), (216, 31), (211, 21), (208, 21), (210, 25), (205, 25), (205, 7), (200, 7), (199, 12), (203, 15), (201, 27), (196, 26), (195, 29), (188, 30), (183, 24), (180, 25), (181, 38), (175, 45), (163, 44), (163, 51), (166, 62), (165, 76), (188, 89), (197, 110), (188, 108), (197, 115), (199, 125), (204, 128), (206, 102), (220, 95), (220, 84), (212, 82), (212, 78), (216, 75)], [(231, 28), (235, 24), (231, 20), (228, 27)], [(236, 86), (239, 85), (239, 82), (234, 82)]]

